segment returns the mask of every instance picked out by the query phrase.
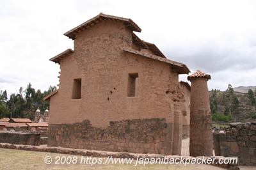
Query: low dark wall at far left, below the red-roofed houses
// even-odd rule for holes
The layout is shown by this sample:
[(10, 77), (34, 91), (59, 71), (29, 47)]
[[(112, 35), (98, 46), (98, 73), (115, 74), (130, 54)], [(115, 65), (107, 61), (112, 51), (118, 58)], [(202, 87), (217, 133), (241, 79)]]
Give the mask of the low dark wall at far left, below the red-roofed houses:
[(0, 132), (0, 143), (40, 145), (40, 134), (22, 132)]

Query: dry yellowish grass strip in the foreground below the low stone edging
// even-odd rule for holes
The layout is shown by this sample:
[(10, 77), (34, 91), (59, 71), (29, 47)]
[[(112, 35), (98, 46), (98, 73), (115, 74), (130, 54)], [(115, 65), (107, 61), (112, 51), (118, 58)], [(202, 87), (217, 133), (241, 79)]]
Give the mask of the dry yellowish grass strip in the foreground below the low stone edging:
[[(45, 157), (50, 156), (52, 158), (51, 164), (45, 163)], [(57, 157), (57, 158), (56, 158)], [(58, 163), (58, 157), (63, 157), (63, 164), (61, 160)], [(76, 164), (67, 164), (67, 158), (70, 158), (68, 162), (77, 157)], [(66, 161), (65, 161), (66, 158)], [(133, 160), (132, 164), (81, 164), (80, 155), (66, 155), (60, 153), (47, 153), (36, 151), (24, 151), (24, 150), (10, 150), (0, 148), (0, 169), (221, 169), (220, 167), (209, 166), (205, 164), (136, 164), (136, 160)], [(85, 157), (84, 157), (85, 158)], [(99, 158), (98, 158), (99, 159)], [(104, 162), (106, 158), (102, 158)], [(83, 162), (83, 161), (82, 161)]]

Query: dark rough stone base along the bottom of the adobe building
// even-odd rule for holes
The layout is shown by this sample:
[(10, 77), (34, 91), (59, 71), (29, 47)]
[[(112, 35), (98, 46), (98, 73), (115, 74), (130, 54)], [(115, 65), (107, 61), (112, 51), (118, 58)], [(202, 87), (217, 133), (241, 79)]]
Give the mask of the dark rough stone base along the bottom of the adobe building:
[(132, 153), (168, 153), (168, 126), (164, 118), (110, 121), (107, 128), (82, 123), (49, 125), (48, 146)]

